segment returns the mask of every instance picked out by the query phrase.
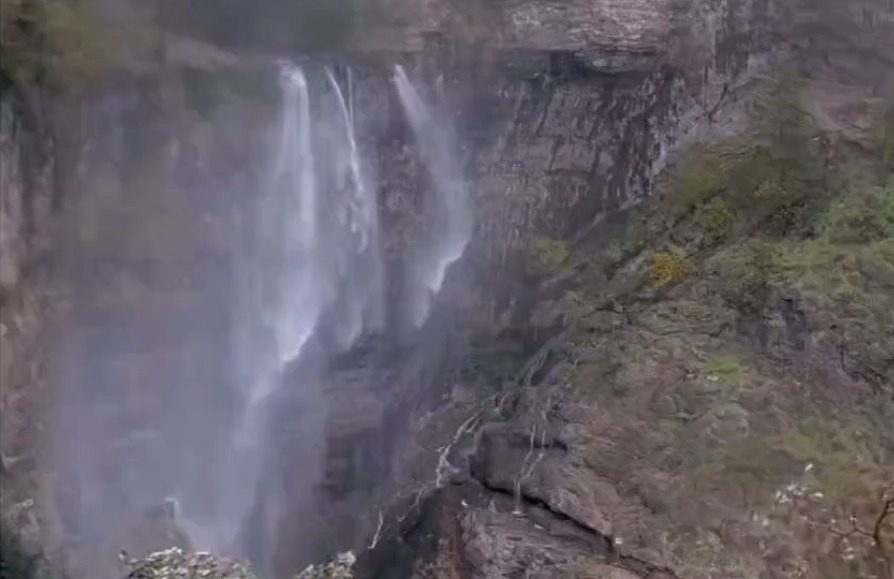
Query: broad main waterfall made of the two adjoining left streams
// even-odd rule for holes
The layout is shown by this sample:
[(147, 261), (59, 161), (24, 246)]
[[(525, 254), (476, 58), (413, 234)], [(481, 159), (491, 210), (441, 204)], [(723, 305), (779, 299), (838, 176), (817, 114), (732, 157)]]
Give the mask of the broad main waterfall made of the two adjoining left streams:
[[(270, 456), (267, 425), (282, 388), (297, 389), (290, 399), (299, 400), (312, 416), (299, 425), (308, 496), (316, 482), (325, 401), (318, 376), (305, 372), (301, 384), (285, 384), (286, 368), (302, 356), (322, 355), (319, 349), (313, 354), (305, 352), (311, 340), (322, 337), (329, 340), (330, 350), (347, 349), (381, 323), (382, 266), (374, 188), (364, 175), (351, 106), (332, 71), (327, 68), (324, 74), (333, 98), (312, 107), (308, 78), (302, 69), (281, 66), (280, 135), (269, 187), (263, 193), (266, 210), (258, 224), (260, 241), (254, 249), (259, 255), (245, 256), (270, 264), (257, 272), (262, 291), (248, 290), (267, 298), (249, 298), (237, 308), (260, 318), (256, 331), (250, 328), (258, 323), (249, 319), (240, 332), (268, 337), (254, 344), (250, 339), (237, 340), (238, 347), (249, 353), (236, 352), (245, 360), (239, 372), (245, 390), (221, 477), (224, 499), (219, 501), (216, 518), (188, 521), (194, 538), (211, 548), (230, 548), (240, 540), (237, 535), (245, 533), (244, 525), (253, 511), (271, 508), (258, 506), (257, 489), (265, 461), (276, 460)], [(326, 106), (332, 103), (334, 106)], [(269, 520), (260, 524), (267, 529), (264, 533), (272, 532)]]

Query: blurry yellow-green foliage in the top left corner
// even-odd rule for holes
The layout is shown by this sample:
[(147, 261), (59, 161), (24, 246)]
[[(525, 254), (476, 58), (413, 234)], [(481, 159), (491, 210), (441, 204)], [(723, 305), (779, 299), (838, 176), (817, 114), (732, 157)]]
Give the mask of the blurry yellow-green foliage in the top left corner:
[(105, 69), (111, 48), (71, 0), (0, 1), (0, 70), (20, 85), (76, 90)]

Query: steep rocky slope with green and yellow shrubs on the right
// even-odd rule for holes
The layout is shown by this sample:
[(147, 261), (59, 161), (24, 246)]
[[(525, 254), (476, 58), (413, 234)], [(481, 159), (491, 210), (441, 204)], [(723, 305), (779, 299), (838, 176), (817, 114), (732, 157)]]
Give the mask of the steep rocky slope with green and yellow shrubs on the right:
[(781, 95), (599, 235), (540, 244), (540, 309), (564, 329), (486, 401), (454, 401), (475, 417), (448, 455), (455, 486), (403, 531), (438, 538), (411, 549), (421, 561), (386, 547), (373, 567), (890, 576), (894, 133), (855, 128), (882, 126), (876, 107), (818, 147)]

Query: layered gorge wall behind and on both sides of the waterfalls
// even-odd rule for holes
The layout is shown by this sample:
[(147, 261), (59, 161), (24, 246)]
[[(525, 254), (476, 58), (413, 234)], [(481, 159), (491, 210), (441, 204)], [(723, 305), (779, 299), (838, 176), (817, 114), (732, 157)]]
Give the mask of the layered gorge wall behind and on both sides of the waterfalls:
[[(268, 532), (277, 538), (264, 550), (278, 574), (381, 541), (386, 546), (368, 566), (394, 573), (382, 576), (409, 576), (423, 552), (461, 559), (445, 563), (455, 573), (446, 576), (508, 577), (532, 561), (532, 577), (584, 573), (586, 565), (589, 575), (582, 576), (674, 575), (663, 553), (643, 553), (655, 549), (647, 533), (633, 551), (613, 544), (611, 519), (644, 507), (622, 501), (610, 477), (594, 482), (572, 473), (571, 486), (552, 487), (537, 478), (541, 486), (525, 491), (530, 518), (511, 516), (520, 510), (525, 481), (506, 473), (532, 474), (537, 457), (558, 465), (556, 472), (579, 466), (553, 456), (579, 459), (563, 448), (573, 437), (555, 434), (546, 416), (580, 413), (583, 403), (555, 393), (518, 402), (501, 389), (516, 373), (527, 383), (543, 379), (541, 366), (551, 362), (540, 353), (562, 325), (552, 286), (544, 290), (531, 272), (532, 255), (544, 240), (598, 235), (608, 216), (648, 195), (656, 173), (688, 140), (740, 129), (755, 79), (777, 61), (800, 55), (808, 68), (837, 74), (866, 51), (879, 62), (888, 58), (889, 5), (866, 2), (853, 19), (850, 12), (839, 19), (857, 23), (859, 46), (847, 34), (830, 40), (823, 22), (834, 16), (822, 10), (817, 22), (781, 2), (429, 2), (410, 27), (412, 43), (382, 47), (370, 38), (359, 54), (338, 59), (354, 73), (357, 136), (375, 160), (391, 279), (405, 275), (406, 255), (426, 226), (416, 207), (424, 169), (391, 85), (392, 64), (402, 63), (449, 119), (472, 184), (476, 226), (422, 331), (392, 324), (327, 369), (320, 386), (323, 480), (296, 483), (300, 460), (267, 473), (281, 489), (274, 507), (259, 507), (276, 511)], [(795, 28), (803, 34), (794, 35)], [(168, 63), (99, 89), (77, 109), (81, 138), (68, 149), (57, 145), (55, 154), (67, 155), (58, 159), (41, 156), (44, 147), (35, 143), (52, 141), (51, 123), (64, 142), (70, 126), (47, 117), (35, 128), (4, 109), (3, 468), (19, 481), (39, 478), (21, 491), (4, 490), (4, 511), (32, 540), (82, 543), (70, 549), (77, 553), (70, 566), (82, 573), (96, 572), (85, 562), (111, 561), (122, 546), (139, 551), (182, 539), (166, 536), (167, 527), (140, 530), (139, 513), (163, 498), (159, 489), (174, 486), (176, 469), (130, 481), (125, 459), (170, 464), (175, 456), (188, 465), (215, 452), (231, 427), (227, 393), (239, 386), (232, 356), (240, 348), (231, 341), (239, 333), (234, 309), (245, 304), (235, 292), (251, 291), (241, 250), (257, 234), (253, 192), (263, 187), (263, 151), (275, 139), (276, 97), (272, 82), (265, 89), (275, 80), (272, 70), (252, 76), (254, 63), (212, 60), (214, 66)], [(227, 84), (231, 75), (236, 88)], [(875, 81), (849, 75), (854, 84)], [(261, 94), (251, 92), (257, 87)], [(26, 298), (47, 286), (66, 290), (52, 301), (68, 312), (53, 339), (46, 335), (49, 298)], [(393, 286), (389, 303), (400, 304), (400, 284)], [(470, 357), (490, 353), (482, 344), (506, 348), (497, 358), (511, 368), (494, 371), (483, 385), (480, 375), (467, 373)], [(545, 391), (538, 392), (535, 398)], [(487, 413), (497, 412), (511, 428), (498, 426), (493, 435), (482, 429), (492, 422), (482, 414), (483, 400), (494, 400)], [(70, 414), (76, 423), (60, 422), (50, 402), (86, 404), (89, 412)], [(285, 399), (274, 429), (287, 430), (307, 411)], [(43, 432), (33, 426), (49, 423)], [(50, 444), (48, 436), (77, 438), (84, 424), (86, 454), (60, 463), (70, 470), (35, 468), (35, 449)], [(184, 424), (189, 431), (178, 432)], [(294, 454), (301, 436), (284, 432), (273, 454)], [(89, 488), (87, 481), (79, 489), (77, 476), (86, 471), (108, 486)], [(469, 491), (463, 483), (470, 479), (493, 492)], [(448, 484), (456, 493), (441, 492)], [(293, 496), (290, 485), (309, 497)], [(128, 496), (116, 496), (121, 489)], [(604, 514), (603, 504), (617, 511)], [(468, 505), (475, 507), (471, 515)], [(84, 528), (85, 521), (93, 526)], [(411, 523), (418, 526), (408, 532)], [(440, 543), (415, 544), (420, 528)], [(507, 549), (518, 536), (526, 538)], [(118, 544), (121, 537), (127, 545)], [(478, 550), (463, 551), (466, 543)]]

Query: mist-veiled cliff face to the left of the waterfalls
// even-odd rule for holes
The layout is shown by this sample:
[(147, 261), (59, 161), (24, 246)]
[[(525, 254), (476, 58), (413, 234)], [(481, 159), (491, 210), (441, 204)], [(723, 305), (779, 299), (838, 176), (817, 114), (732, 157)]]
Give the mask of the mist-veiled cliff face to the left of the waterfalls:
[(229, 431), (257, 233), (244, 192), (275, 110), (258, 90), (172, 66), (28, 114), (5, 95), (4, 528), (63, 545), (74, 573), (170, 546), (145, 513), (171, 492), (171, 461), (210, 457)]

